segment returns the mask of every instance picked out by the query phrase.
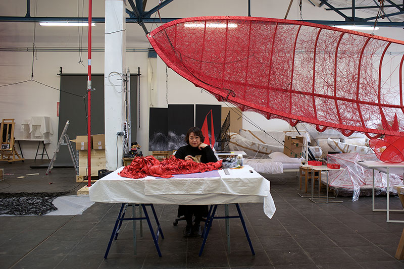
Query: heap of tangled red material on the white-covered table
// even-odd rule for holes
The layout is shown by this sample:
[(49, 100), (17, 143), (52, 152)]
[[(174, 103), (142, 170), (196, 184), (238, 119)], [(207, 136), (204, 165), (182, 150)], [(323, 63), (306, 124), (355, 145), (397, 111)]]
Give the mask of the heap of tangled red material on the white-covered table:
[(199, 172), (207, 172), (218, 170), (222, 167), (222, 160), (216, 163), (195, 163), (193, 160), (177, 159), (170, 156), (160, 162), (153, 156), (135, 157), (132, 163), (120, 173), (119, 176), (125, 178), (144, 178), (146, 176), (154, 176), (161, 178), (171, 178), (175, 174), (191, 174)]

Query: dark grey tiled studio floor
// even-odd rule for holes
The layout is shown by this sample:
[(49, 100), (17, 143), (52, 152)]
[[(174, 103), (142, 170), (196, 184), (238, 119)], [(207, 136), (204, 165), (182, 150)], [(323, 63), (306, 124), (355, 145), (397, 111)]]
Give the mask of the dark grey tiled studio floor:
[[(38, 161), (37, 161), (38, 163)], [(6, 176), (0, 192), (75, 191), (73, 169), (30, 169), (32, 161), (0, 164)], [(39, 176), (16, 179), (20, 174)], [(159, 258), (145, 224), (137, 225), (134, 254), (132, 222), (124, 222), (108, 259), (104, 253), (120, 204), (95, 203), (78, 216), (0, 217), (0, 268), (404, 268), (394, 258), (404, 228), (386, 223), (384, 212), (372, 211), (372, 198), (338, 197), (343, 203), (314, 204), (297, 195), (295, 174), (265, 175), (277, 210), (272, 219), (262, 204), (240, 204), (256, 255), (252, 256), (242, 226), (230, 220), (230, 253), (225, 222), (215, 220), (204, 253), (198, 256), (200, 238), (183, 238), (184, 222), (173, 226), (177, 206), (155, 205), (165, 239)], [(53, 184), (49, 184), (52, 182)], [(386, 196), (376, 198), (385, 206)], [(391, 196), (391, 206), (399, 199)], [(230, 212), (235, 207), (230, 205)], [(219, 206), (219, 214), (224, 206)], [(404, 213), (391, 219), (404, 220)]]

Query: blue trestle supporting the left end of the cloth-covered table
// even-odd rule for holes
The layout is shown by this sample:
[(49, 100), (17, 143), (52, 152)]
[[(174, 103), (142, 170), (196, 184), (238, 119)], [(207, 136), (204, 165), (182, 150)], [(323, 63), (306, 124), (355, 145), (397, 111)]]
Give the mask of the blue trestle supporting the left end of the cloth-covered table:
[[(148, 216), (148, 213), (147, 213), (146, 205), (150, 206), (151, 211), (153, 211), (153, 215), (155, 217), (155, 221), (156, 221), (156, 224), (157, 224), (157, 232), (156, 232), (156, 234), (155, 234), (155, 232), (153, 230), (153, 227), (151, 226), (151, 222), (150, 222), (150, 219), (149, 219), (149, 216)], [(132, 206), (136, 206), (136, 205), (132, 204)], [(162, 231), (161, 226), (160, 226), (159, 219), (157, 218), (156, 210), (155, 210), (153, 204), (139, 204), (139, 206), (141, 206), (141, 208), (143, 208), (144, 217), (136, 218), (135, 216), (132, 216), (132, 218), (124, 218), (125, 217), (125, 211), (126, 211), (126, 208), (128, 207), (128, 204), (127, 203), (122, 203), (121, 209), (119, 210), (119, 213), (118, 213), (117, 220), (115, 222), (114, 229), (113, 229), (112, 234), (111, 234), (110, 241), (108, 242), (107, 250), (106, 250), (105, 255), (104, 255), (105, 259), (108, 257), (108, 253), (110, 251), (111, 244), (112, 244), (114, 238), (115, 239), (118, 238), (118, 233), (119, 233), (119, 229), (122, 226), (122, 222), (123, 221), (133, 221), (133, 220), (146, 220), (147, 221), (147, 225), (149, 227), (151, 237), (153, 237), (153, 242), (155, 243), (157, 253), (159, 254), (159, 257), (162, 256), (161, 252), (160, 252), (160, 247), (159, 247), (159, 236), (161, 235), (161, 238), (164, 239), (164, 235), (163, 235), (163, 231)]]

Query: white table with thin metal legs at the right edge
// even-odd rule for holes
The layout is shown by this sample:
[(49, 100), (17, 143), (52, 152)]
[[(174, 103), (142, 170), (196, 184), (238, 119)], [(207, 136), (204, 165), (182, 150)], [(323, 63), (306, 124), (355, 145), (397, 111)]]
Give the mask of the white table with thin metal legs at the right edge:
[[(373, 180), (372, 180), (372, 210), (373, 211), (386, 211), (387, 214), (387, 220), (386, 222), (395, 222), (395, 223), (404, 223), (404, 221), (391, 221), (389, 219), (389, 212), (390, 211), (399, 211), (402, 212), (404, 209), (390, 209), (390, 202), (389, 202), (389, 196), (390, 196), (390, 191), (389, 191), (389, 173), (392, 174), (403, 174), (404, 173), (404, 163), (399, 163), (399, 164), (387, 164), (382, 162), (381, 160), (363, 160), (356, 162), (356, 164), (360, 165), (363, 168), (366, 169), (372, 169), (373, 171)], [(387, 175), (387, 188), (386, 188), (386, 193), (387, 193), (387, 206), (386, 209), (375, 209), (375, 170), (380, 171), (384, 174)]]

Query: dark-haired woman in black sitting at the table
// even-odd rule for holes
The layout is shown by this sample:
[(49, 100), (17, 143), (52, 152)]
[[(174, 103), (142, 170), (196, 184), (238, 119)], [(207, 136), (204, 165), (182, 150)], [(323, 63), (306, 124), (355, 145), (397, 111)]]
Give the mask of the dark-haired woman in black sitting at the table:
[[(175, 157), (204, 164), (217, 162), (215, 153), (209, 145), (202, 142), (204, 140), (205, 137), (198, 127), (189, 128), (185, 136), (187, 145), (180, 147)], [(179, 205), (177, 217), (181, 216), (184, 216), (186, 220), (184, 236), (200, 236), (200, 221), (208, 216), (208, 205)], [(192, 216), (195, 217), (193, 225)]]

